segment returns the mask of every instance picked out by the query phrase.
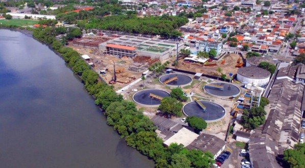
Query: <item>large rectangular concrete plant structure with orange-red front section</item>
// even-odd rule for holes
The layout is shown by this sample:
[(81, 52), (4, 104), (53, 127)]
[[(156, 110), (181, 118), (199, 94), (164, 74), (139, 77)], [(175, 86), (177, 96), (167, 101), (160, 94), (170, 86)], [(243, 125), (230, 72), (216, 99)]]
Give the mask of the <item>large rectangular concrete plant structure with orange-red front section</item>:
[(152, 59), (165, 60), (176, 56), (184, 48), (183, 43), (169, 40), (151, 39), (146, 37), (122, 36), (101, 43), (99, 50), (119, 57), (149, 56)]

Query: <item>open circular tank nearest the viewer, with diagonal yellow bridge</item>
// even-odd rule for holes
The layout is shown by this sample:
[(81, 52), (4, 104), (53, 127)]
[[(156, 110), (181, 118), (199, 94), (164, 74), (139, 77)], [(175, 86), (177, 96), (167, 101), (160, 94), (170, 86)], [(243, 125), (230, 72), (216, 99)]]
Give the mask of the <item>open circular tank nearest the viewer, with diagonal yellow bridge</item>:
[(200, 100), (199, 102), (201, 102), (205, 106), (205, 111), (202, 110), (202, 108), (197, 102), (193, 101), (183, 106), (183, 113), (186, 116), (200, 117), (204, 119), (207, 123), (219, 121), (224, 117), (225, 109), (221, 105), (214, 102), (202, 100)]

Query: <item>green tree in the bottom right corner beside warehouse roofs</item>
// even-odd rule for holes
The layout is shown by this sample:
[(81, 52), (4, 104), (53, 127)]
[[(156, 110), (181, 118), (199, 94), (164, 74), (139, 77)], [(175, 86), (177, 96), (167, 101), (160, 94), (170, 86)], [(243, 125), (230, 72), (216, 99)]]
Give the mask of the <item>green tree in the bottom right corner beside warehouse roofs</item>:
[(305, 143), (298, 143), (294, 149), (285, 150), (283, 159), (289, 167), (305, 167)]

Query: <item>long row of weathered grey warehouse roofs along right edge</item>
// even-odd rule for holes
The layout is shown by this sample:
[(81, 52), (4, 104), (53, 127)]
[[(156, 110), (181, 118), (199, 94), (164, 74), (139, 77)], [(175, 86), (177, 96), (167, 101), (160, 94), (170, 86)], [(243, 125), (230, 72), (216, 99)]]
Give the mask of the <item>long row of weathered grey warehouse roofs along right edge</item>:
[(271, 109), (264, 126), (250, 135), (249, 154), (253, 167), (277, 168), (278, 155), (299, 142), (304, 86), (289, 79), (276, 79), (268, 100)]

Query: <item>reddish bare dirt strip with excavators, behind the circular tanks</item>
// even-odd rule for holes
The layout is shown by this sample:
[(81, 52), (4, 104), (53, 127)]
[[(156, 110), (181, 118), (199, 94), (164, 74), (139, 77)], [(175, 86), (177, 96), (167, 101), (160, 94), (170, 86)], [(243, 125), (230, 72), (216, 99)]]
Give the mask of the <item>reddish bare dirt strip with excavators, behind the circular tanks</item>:
[[(217, 64), (216, 66), (204, 66), (199, 63), (185, 63), (183, 59), (180, 59), (179, 64), (176, 67), (183, 70), (194, 71), (194, 72), (207, 74), (207, 75), (214, 75), (214, 76), (219, 75), (216, 69), (220, 67), (222, 69), (223, 74), (226, 75), (229, 73), (237, 74), (238, 68), (235, 66), (239, 58), (241, 57), (238, 54), (229, 54), (223, 59), (220, 59), (218, 61), (213, 60), (212, 62), (209, 62), (209, 63), (216, 63)], [(224, 64), (221, 64), (223, 60), (225, 60), (225, 62)], [(174, 61), (174, 58), (172, 59), (172, 61)], [(242, 60), (240, 61), (242, 62)], [(175, 68), (174, 66), (171, 65), (170, 67)]]

